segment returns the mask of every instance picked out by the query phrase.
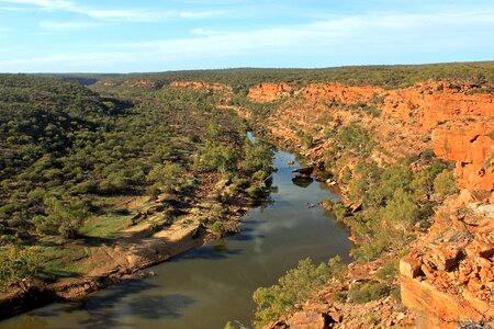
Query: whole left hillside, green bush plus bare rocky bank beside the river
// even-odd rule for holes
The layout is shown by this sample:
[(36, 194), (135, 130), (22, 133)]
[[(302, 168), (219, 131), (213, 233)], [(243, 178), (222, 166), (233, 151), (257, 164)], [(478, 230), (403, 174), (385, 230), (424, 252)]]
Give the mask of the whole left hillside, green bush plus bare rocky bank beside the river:
[(215, 95), (0, 81), (0, 317), (236, 231), (265, 193), (269, 146)]

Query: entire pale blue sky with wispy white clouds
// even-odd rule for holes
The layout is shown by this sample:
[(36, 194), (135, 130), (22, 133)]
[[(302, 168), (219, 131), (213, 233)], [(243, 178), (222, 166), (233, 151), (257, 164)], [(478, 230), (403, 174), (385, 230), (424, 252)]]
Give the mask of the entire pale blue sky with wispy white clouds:
[(0, 0), (0, 72), (491, 59), (492, 0)]

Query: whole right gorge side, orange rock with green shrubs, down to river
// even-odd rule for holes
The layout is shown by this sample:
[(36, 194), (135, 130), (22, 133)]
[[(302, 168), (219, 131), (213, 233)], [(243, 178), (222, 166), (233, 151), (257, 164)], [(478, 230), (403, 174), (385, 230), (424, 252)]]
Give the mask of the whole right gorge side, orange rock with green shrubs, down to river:
[[(456, 328), (492, 318), (492, 83), (262, 82), (245, 97), (198, 81), (171, 84), (222, 93), (218, 107), (310, 159), (346, 196), (325, 206), (352, 230), (348, 273), (307, 304), (278, 299), (289, 287), (256, 293), (259, 325)], [(296, 274), (287, 275), (280, 283)]]

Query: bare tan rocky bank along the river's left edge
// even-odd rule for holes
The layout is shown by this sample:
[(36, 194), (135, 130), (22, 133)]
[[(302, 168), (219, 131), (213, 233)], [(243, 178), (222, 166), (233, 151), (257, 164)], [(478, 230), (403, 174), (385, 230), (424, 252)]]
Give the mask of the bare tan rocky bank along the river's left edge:
[[(217, 190), (199, 198), (170, 226), (156, 230), (153, 223), (135, 225), (119, 234), (115, 242), (103, 245), (85, 262), (91, 270), (76, 277), (60, 279), (55, 283), (25, 282), (22, 287), (0, 296), (0, 319), (5, 319), (55, 300), (80, 298), (96, 291), (126, 280), (153, 275), (143, 270), (170, 258), (202, 246), (220, 236), (204, 225), (206, 209), (218, 205)], [(235, 231), (244, 214), (256, 203), (249, 197), (239, 197), (223, 208), (223, 218), (229, 230)], [(156, 201), (160, 204), (160, 200)], [(154, 207), (150, 206), (149, 209)], [(182, 209), (183, 211), (183, 209)], [(143, 212), (145, 214), (146, 211)], [(153, 216), (159, 215), (148, 212)], [(226, 229), (228, 230), (228, 229)]]

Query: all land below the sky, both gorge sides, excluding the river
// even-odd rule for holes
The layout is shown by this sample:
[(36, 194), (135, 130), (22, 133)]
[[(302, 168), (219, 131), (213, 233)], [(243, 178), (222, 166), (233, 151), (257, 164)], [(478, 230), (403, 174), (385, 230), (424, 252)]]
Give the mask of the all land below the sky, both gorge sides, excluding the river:
[(251, 129), (334, 186), (355, 242), (258, 290), (257, 327), (487, 328), (493, 68), (0, 76), (0, 317), (236, 231), (272, 170)]

